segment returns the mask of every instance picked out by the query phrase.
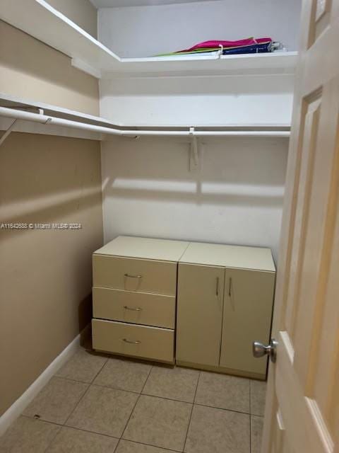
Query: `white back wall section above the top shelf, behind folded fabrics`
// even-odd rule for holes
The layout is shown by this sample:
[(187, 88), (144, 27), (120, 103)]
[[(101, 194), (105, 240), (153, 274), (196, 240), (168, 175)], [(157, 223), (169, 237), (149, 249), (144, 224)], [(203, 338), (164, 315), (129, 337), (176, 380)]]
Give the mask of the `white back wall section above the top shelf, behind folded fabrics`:
[(102, 8), (98, 37), (120, 57), (148, 57), (204, 40), (249, 36), (283, 41), (297, 50), (301, 0), (218, 0)]

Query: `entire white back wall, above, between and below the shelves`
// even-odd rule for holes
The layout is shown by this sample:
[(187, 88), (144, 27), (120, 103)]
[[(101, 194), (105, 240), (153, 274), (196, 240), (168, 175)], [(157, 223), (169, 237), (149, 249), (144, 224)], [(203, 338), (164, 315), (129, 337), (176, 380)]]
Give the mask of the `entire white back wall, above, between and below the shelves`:
[[(99, 11), (99, 37), (121, 57), (195, 42), (271, 35), (297, 48), (300, 0), (225, 0)], [(100, 81), (101, 115), (134, 126), (289, 125), (293, 76), (163, 74)], [(189, 143), (102, 143), (105, 242), (118, 234), (268, 246), (278, 253), (286, 139), (208, 139), (201, 174)]]

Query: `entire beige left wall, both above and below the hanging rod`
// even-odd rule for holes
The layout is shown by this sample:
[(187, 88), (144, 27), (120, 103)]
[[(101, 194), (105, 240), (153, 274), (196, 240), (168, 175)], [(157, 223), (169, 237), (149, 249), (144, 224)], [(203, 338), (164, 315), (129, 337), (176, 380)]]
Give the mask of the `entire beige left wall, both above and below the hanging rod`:
[[(0, 92), (99, 113), (95, 78), (1, 21)], [(83, 227), (0, 229), (0, 415), (90, 321), (91, 254), (102, 245), (100, 142), (12, 133), (0, 147), (1, 222)]]

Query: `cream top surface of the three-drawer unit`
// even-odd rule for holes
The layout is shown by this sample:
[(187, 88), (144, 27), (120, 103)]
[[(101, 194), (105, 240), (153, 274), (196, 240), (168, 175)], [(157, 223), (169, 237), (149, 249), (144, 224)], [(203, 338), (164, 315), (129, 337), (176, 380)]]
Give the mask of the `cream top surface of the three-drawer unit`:
[(189, 242), (185, 241), (118, 236), (94, 254), (177, 262), (187, 246)]

